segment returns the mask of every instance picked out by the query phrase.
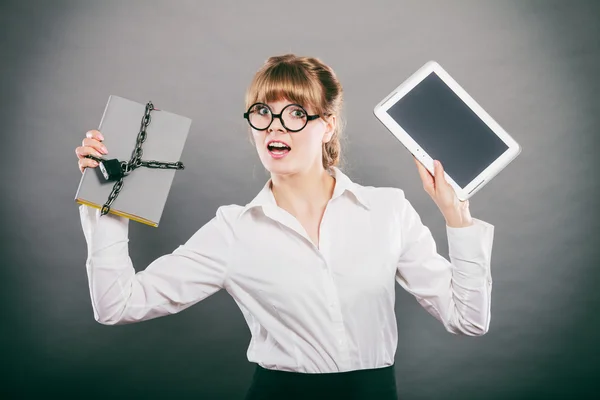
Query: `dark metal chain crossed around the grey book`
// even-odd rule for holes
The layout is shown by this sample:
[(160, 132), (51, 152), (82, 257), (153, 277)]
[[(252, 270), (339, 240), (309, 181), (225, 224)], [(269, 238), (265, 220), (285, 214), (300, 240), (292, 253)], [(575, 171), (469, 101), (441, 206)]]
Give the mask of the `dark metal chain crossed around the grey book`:
[(154, 105), (151, 101), (146, 104), (146, 110), (144, 111), (144, 116), (142, 117), (142, 122), (140, 126), (140, 132), (138, 133), (135, 148), (131, 153), (131, 159), (129, 161), (121, 161), (121, 170), (123, 171), (123, 176), (115, 183), (113, 189), (108, 196), (108, 201), (104, 203), (101, 209), (101, 215), (106, 215), (110, 211), (110, 206), (115, 201), (121, 189), (123, 188), (123, 179), (129, 175), (133, 170), (139, 167), (147, 167), (147, 168), (161, 168), (161, 169), (184, 169), (184, 165), (181, 161), (176, 162), (165, 162), (165, 161), (156, 161), (156, 160), (142, 160), (142, 154), (144, 150), (142, 149), (142, 145), (146, 141), (146, 128), (150, 125), (151, 116), (150, 112), (152, 110), (158, 110), (154, 108)]

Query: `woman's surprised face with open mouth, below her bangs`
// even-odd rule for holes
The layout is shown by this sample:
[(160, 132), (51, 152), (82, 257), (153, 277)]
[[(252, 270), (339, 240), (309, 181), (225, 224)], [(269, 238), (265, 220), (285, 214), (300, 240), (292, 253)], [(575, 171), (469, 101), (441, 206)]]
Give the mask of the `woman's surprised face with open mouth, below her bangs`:
[[(276, 102), (267, 103), (273, 114), (281, 113), (281, 110), (292, 101), (282, 99)], [(314, 109), (310, 106), (303, 106), (309, 115), (314, 115)], [(301, 111), (287, 108), (285, 114), (292, 113), (293, 117), (301, 117)], [(284, 117), (285, 118), (285, 117)], [(294, 129), (293, 127), (290, 127)], [(259, 131), (252, 129), (252, 135), (256, 144), (258, 156), (264, 167), (271, 174), (288, 175), (297, 172), (306, 171), (315, 167), (322, 168), (322, 146), (323, 143), (331, 140), (335, 128), (335, 116), (328, 120), (320, 117), (308, 121), (304, 129), (299, 132), (288, 131), (279, 118), (273, 118), (273, 122), (268, 129)], [(289, 147), (280, 149), (269, 145), (272, 142), (280, 142)]]

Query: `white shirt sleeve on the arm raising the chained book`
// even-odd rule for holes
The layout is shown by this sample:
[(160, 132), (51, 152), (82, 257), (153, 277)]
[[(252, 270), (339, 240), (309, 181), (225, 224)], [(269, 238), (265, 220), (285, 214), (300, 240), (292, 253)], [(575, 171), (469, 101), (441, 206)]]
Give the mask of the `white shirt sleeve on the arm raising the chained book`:
[(96, 321), (120, 325), (182, 311), (224, 287), (232, 231), (222, 212), (185, 244), (138, 273), (129, 257), (129, 220), (80, 205)]

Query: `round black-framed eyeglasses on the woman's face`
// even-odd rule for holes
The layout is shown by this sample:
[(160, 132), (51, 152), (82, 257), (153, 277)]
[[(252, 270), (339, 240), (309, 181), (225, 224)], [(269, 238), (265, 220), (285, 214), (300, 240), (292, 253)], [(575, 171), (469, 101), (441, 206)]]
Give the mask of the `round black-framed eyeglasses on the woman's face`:
[(264, 131), (271, 126), (274, 118), (279, 118), (281, 125), (290, 132), (299, 132), (308, 121), (319, 118), (319, 115), (308, 115), (300, 104), (288, 104), (279, 114), (273, 114), (271, 108), (265, 103), (254, 103), (244, 113), (251, 127), (257, 131)]

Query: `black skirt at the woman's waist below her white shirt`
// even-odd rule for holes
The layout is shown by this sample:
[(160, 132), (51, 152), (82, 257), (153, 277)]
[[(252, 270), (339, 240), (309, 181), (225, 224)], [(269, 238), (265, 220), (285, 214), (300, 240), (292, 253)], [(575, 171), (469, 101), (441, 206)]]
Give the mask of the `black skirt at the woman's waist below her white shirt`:
[(397, 400), (394, 365), (347, 372), (301, 373), (256, 365), (245, 400)]

